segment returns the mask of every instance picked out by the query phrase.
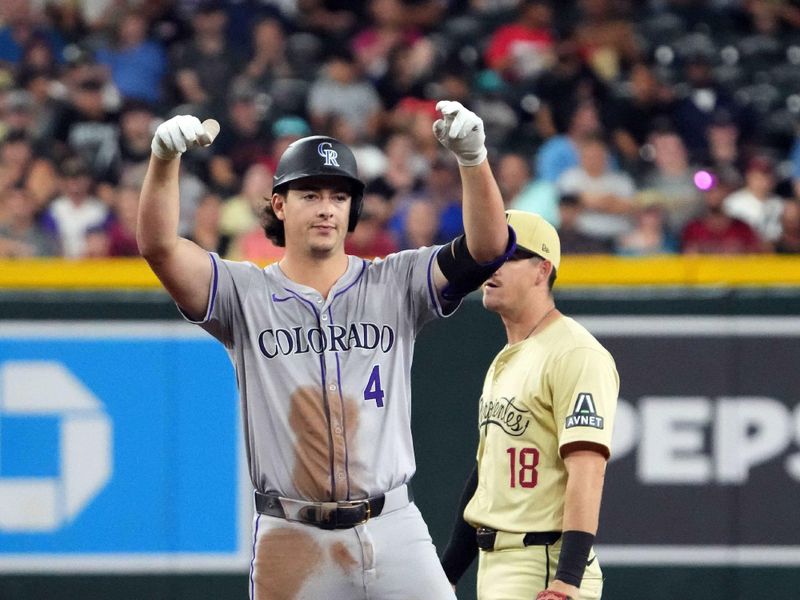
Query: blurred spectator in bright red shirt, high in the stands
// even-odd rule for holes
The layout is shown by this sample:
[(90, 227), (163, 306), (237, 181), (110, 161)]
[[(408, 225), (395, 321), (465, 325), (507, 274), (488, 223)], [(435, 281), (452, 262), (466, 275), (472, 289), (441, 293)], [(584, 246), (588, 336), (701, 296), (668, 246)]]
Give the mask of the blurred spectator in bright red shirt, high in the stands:
[(486, 64), (507, 81), (536, 78), (555, 62), (553, 8), (546, 0), (524, 0), (516, 21), (494, 32)]

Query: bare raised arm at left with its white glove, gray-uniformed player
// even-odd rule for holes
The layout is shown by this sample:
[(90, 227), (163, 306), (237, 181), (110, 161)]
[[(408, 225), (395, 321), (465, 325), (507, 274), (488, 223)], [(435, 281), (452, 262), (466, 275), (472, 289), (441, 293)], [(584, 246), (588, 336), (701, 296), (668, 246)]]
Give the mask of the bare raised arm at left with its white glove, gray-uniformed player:
[(178, 236), (180, 156), (187, 149), (209, 145), (219, 132), (216, 121), (179, 115), (159, 125), (139, 199), (136, 241), (139, 253), (186, 314), (205, 315), (212, 266), (208, 253)]

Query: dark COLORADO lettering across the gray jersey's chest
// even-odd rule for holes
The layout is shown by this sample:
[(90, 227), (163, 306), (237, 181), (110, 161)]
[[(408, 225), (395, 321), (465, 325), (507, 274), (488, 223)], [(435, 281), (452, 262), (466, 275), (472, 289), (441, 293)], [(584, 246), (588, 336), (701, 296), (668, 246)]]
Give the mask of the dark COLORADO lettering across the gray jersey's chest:
[(267, 358), (307, 352), (348, 352), (356, 348), (386, 353), (392, 349), (394, 341), (391, 327), (375, 323), (265, 329), (258, 334), (258, 348)]

